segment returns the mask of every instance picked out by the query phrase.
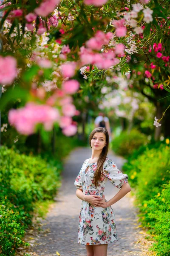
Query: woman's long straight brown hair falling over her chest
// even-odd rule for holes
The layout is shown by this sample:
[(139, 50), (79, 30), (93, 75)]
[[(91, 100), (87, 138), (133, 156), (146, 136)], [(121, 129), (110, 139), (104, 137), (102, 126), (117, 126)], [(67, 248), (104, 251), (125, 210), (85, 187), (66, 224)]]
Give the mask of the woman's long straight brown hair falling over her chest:
[(94, 173), (94, 184), (97, 187), (98, 181), (100, 180), (102, 169), (103, 169), (103, 164), (106, 160), (107, 154), (108, 154), (108, 149), (109, 149), (109, 134), (106, 128), (103, 127), (97, 127), (95, 128), (91, 134), (89, 135), (89, 143), (91, 146), (91, 140), (94, 137), (94, 134), (96, 132), (103, 132), (106, 136), (106, 146), (103, 147), (101, 154), (99, 155), (99, 159), (97, 161), (97, 169)]

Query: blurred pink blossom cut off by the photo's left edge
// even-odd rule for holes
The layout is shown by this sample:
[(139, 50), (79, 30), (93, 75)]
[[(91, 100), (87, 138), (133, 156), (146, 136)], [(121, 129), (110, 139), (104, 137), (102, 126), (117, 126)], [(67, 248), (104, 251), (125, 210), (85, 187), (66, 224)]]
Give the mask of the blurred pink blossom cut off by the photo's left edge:
[(17, 76), (17, 61), (12, 56), (0, 56), (0, 84), (11, 84)]

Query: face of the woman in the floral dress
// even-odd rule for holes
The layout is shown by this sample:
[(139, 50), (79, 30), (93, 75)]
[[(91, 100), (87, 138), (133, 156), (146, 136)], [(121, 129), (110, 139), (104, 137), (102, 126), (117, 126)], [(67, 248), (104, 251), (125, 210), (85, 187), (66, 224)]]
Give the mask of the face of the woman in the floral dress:
[(91, 147), (94, 150), (101, 150), (106, 145), (106, 136), (102, 132), (96, 132), (91, 139)]

